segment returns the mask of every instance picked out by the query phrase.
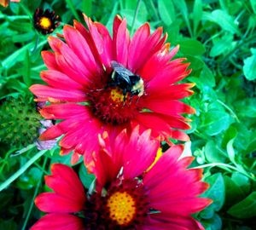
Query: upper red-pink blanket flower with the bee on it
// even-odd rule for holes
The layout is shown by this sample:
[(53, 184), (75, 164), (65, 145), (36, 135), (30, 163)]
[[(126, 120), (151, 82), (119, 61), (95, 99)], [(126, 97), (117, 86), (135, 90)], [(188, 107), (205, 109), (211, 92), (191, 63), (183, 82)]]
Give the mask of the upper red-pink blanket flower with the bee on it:
[[(99, 133), (115, 136), (140, 125), (152, 129), (154, 138), (188, 141), (180, 129), (189, 129), (183, 113), (195, 109), (180, 99), (192, 95), (194, 83), (179, 83), (189, 75), (184, 58), (172, 60), (178, 46), (170, 49), (162, 28), (150, 35), (148, 23), (131, 38), (126, 20), (116, 16), (113, 37), (107, 28), (84, 15), (88, 30), (74, 20), (64, 26), (63, 38), (49, 37), (53, 53), (43, 51), (49, 70), (41, 72), (48, 85), (30, 88), (38, 101), (49, 101), (41, 114), (61, 123), (46, 130), (42, 140), (64, 135), (61, 154), (73, 152), (73, 162), (80, 154), (96, 150)], [(90, 162), (90, 154), (87, 154)]]

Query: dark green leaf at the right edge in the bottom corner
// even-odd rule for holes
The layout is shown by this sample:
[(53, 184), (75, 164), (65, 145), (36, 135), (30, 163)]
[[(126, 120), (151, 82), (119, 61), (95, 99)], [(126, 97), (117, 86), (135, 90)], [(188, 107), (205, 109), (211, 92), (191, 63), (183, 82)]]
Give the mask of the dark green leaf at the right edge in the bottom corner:
[(231, 216), (247, 219), (256, 216), (256, 192), (251, 193), (247, 198), (238, 204), (233, 205), (228, 213)]

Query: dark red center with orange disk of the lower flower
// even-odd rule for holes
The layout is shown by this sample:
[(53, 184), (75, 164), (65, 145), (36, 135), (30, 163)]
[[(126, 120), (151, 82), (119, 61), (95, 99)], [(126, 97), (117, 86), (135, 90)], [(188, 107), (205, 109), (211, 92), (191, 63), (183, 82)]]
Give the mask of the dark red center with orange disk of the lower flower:
[(85, 229), (137, 229), (148, 216), (148, 200), (142, 183), (117, 180), (105, 196), (94, 194), (85, 204)]

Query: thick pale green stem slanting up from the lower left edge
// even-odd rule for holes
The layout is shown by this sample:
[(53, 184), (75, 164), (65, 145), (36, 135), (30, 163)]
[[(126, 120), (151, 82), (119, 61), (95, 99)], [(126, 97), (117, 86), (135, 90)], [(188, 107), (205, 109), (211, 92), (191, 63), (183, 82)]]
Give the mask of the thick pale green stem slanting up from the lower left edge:
[(22, 175), (35, 161), (38, 160), (38, 158), (41, 158), (45, 152), (47, 152), (47, 150), (42, 150), (38, 152), (29, 161), (27, 161), (20, 170), (16, 171), (14, 175), (11, 175), (6, 181), (4, 181), (3, 184), (0, 185), (0, 192), (6, 187), (9, 187), (9, 185), (13, 181), (15, 181), (20, 175)]

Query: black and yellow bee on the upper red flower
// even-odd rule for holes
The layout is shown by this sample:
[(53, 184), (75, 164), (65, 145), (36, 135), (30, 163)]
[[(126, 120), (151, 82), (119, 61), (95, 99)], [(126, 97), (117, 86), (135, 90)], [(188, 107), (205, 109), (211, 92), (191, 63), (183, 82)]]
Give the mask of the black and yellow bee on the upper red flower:
[(111, 66), (113, 73), (109, 86), (118, 86), (119, 89), (123, 90), (123, 95), (131, 93), (131, 96), (140, 97), (144, 94), (144, 81), (139, 75), (134, 74), (114, 60), (111, 61)]

